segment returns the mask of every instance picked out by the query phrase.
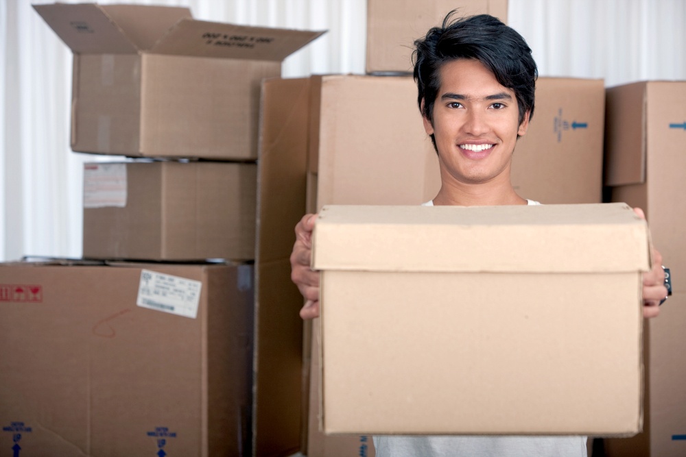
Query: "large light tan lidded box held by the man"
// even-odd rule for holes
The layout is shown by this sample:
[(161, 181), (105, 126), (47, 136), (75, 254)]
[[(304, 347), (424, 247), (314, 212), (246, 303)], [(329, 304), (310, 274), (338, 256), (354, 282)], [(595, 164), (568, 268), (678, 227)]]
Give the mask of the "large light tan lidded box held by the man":
[(324, 207), (324, 431), (639, 432), (648, 239), (623, 203)]

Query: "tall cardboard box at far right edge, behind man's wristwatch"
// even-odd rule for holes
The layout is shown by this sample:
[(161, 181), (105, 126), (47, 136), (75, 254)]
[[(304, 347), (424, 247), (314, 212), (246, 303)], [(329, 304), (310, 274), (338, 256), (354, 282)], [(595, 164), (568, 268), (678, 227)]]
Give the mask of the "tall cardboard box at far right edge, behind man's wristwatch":
[(643, 433), (606, 440), (611, 457), (686, 455), (686, 82), (650, 81), (607, 89), (606, 184), (613, 201), (643, 208), (663, 264), (676, 278), (660, 316), (646, 323)]

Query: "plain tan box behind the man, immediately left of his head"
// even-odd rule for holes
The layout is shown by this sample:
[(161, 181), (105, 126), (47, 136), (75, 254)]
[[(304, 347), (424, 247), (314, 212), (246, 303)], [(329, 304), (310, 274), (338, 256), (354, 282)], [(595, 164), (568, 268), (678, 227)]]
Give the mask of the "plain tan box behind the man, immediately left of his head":
[(436, 196), (438, 157), (412, 77), (315, 76), (311, 90), (309, 169), (318, 174), (318, 208)]

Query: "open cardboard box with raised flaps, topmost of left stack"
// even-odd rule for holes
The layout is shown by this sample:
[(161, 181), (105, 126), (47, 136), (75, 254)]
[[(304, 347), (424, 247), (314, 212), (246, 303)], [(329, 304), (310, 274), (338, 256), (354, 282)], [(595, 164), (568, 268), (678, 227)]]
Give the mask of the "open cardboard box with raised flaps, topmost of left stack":
[(196, 21), (188, 8), (34, 5), (74, 53), (71, 149), (254, 160), (260, 82), (322, 32)]

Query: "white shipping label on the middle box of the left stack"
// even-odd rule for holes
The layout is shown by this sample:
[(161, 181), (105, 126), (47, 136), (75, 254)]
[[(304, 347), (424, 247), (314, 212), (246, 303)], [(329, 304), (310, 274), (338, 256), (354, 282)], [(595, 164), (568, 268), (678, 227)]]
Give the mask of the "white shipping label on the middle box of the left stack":
[(124, 208), (126, 197), (126, 164), (85, 164), (84, 208)]

